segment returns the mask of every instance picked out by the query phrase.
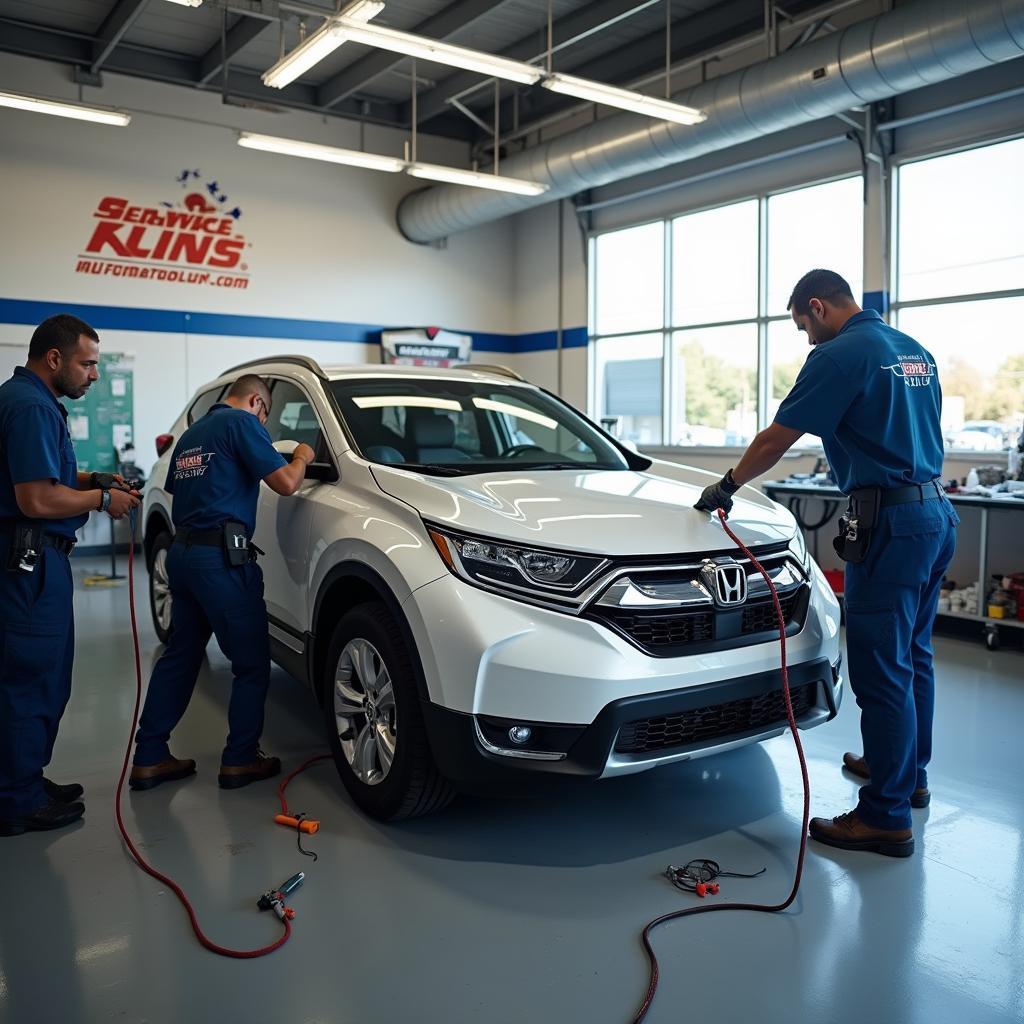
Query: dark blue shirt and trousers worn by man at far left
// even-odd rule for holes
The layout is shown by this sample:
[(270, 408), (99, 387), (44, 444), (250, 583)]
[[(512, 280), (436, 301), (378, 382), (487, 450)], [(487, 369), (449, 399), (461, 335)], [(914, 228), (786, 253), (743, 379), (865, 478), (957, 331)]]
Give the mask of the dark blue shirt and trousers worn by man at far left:
[[(14, 484), (33, 480), (77, 487), (78, 463), (67, 410), (40, 377), (18, 367), (0, 386), (0, 818), (48, 803), (43, 768), (71, 696), (75, 615), (68, 555), (44, 545), (35, 571), (4, 568), (13, 521), (25, 520)], [(72, 542), (87, 518), (37, 522)]]

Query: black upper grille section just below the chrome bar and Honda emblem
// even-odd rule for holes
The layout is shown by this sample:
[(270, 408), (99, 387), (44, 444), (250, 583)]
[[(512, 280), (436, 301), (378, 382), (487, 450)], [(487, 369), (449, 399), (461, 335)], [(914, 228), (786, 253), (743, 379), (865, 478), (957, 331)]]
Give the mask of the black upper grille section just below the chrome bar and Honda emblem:
[[(787, 628), (803, 621), (806, 598), (806, 587), (780, 597)], [(748, 603), (735, 610), (632, 611), (602, 607), (595, 609), (594, 614), (654, 657), (695, 653), (688, 648), (697, 644), (705, 649), (708, 645), (725, 649), (740, 646), (743, 638), (778, 634), (775, 606), (770, 599)]]

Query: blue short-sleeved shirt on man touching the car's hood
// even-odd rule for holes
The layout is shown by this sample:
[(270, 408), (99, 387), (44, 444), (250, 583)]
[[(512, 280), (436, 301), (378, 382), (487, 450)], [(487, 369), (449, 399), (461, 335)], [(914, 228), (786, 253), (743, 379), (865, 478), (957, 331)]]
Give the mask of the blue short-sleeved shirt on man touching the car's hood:
[(815, 345), (775, 422), (818, 434), (840, 489), (927, 483), (942, 473), (935, 359), (872, 309)]

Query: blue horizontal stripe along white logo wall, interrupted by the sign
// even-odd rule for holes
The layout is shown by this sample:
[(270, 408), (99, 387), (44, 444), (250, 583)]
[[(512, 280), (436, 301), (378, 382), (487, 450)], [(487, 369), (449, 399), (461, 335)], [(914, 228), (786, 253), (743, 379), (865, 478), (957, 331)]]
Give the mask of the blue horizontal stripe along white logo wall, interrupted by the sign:
[[(0, 299), (0, 323), (35, 326), (54, 313), (67, 312), (91, 324), (97, 331), (144, 331), (156, 334), (207, 334), (241, 338), (295, 338), (302, 341), (350, 341), (380, 344), (384, 325), (349, 324), (342, 321), (291, 319), (283, 316), (238, 316), (230, 313), (199, 313), (176, 309), (144, 309), (132, 306), (93, 306), (73, 302), (37, 302), (30, 299)], [(515, 355), (547, 351), (557, 347), (555, 331), (535, 334), (489, 334), (462, 331), (473, 337), (473, 348), (484, 352)], [(587, 344), (587, 329), (562, 332), (562, 345), (578, 348)]]

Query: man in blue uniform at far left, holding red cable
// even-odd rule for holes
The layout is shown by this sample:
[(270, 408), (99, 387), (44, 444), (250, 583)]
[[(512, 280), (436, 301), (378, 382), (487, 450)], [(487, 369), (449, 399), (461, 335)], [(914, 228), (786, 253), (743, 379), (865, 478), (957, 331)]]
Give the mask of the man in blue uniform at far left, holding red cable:
[(61, 313), (36, 328), (28, 361), (0, 387), (0, 836), (59, 828), (85, 810), (81, 785), (43, 775), (71, 695), (68, 556), (92, 509), (119, 519), (139, 501), (78, 471), (57, 399), (81, 398), (98, 364), (96, 332)]

